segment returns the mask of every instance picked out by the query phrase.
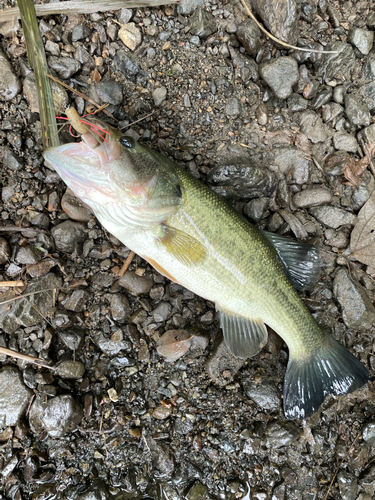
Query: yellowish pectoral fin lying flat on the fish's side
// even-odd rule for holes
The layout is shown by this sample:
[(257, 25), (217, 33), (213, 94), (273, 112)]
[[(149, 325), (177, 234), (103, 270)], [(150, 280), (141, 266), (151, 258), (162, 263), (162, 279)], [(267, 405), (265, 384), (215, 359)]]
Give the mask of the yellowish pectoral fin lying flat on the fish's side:
[(171, 255), (186, 266), (201, 263), (208, 254), (204, 245), (193, 236), (166, 224), (161, 225), (158, 240)]

